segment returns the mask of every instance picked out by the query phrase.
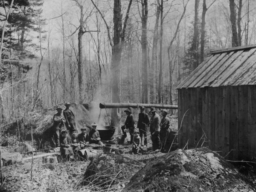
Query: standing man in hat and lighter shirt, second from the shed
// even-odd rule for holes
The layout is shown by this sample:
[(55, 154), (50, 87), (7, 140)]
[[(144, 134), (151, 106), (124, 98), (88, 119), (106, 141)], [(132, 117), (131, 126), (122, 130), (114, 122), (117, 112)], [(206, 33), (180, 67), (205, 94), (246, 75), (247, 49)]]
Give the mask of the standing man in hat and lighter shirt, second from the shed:
[(159, 150), (160, 147), (160, 138), (159, 138), (159, 132), (160, 132), (160, 116), (156, 113), (155, 108), (151, 108), (152, 116), (150, 118), (150, 133), (151, 133), (151, 140), (152, 140), (152, 148), (153, 151)]

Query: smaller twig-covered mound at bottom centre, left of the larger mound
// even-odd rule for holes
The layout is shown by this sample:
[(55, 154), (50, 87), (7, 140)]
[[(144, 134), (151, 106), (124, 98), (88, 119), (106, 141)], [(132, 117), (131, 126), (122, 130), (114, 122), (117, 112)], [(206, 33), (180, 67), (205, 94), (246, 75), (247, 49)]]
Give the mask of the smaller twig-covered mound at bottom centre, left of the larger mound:
[(100, 154), (87, 167), (84, 174), (84, 190), (102, 190), (110, 186), (118, 188), (128, 183), (142, 167), (142, 163), (128, 157), (112, 153)]

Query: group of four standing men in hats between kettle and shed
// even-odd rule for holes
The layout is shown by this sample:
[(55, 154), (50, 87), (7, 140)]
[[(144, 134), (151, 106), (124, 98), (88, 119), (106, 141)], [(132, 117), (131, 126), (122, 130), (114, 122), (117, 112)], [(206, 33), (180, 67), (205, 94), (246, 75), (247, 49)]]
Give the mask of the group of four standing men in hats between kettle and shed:
[[(126, 131), (129, 130), (129, 133), (131, 135), (131, 141), (130, 144), (133, 143), (134, 138), (134, 129), (135, 129), (135, 120), (134, 116), (131, 112), (131, 108), (128, 108), (125, 110), (125, 113), (127, 115), (125, 120), (125, 125), (122, 126), (122, 138), (119, 141), (120, 144), (122, 144), (127, 137)], [(162, 119), (157, 114), (155, 108), (151, 108), (151, 118), (149, 120), (149, 116), (147, 113), (145, 113), (145, 107), (140, 106), (140, 113), (137, 123), (137, 128), (139, 129), (140, 139), (141, 139), (141, 146), (147, 146), (148, 145), (148, 137), (147, 137), (147, 129), (149, 127), (150, 133), (151, 133), (151, 141), (152, 141), (152, 148), (154, 151), (161, 150), (162, 152), (168, 152), (172, 140), (170, 135), (170, 120), (167, 117), (168, 112), (163, 109), (161, 110)], [(137, 131), (135, 131), (137, 132)], [(143, 145), (143, 136), (144, 136), (144, 145)]]

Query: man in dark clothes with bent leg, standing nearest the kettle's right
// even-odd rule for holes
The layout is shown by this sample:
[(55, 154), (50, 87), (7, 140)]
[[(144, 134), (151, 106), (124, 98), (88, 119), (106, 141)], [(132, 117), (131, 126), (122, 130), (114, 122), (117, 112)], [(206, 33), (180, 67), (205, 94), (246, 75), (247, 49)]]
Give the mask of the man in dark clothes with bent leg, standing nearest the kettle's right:
[[(130, 136), (131, 136), (130, 144), (132, 144), (133, 137), (134, 137), (135, 120), (134, 120), (133, 114), (131, 114), (131, 108), (127, 108), (125, 110), (125, 113), (127, 115), (126, 120), (125, 120), (125, 129), (129, 130), (129, 133), (130, 133)], [(123, 131), (123, 134), (124, 134), (123, 135), (123, 140), (124, 140), (124, 138), (127, 137), (127, 135), (126, 135), (126, 131), (124, 131), (123, 128), (122, 128), (122, 131)]]

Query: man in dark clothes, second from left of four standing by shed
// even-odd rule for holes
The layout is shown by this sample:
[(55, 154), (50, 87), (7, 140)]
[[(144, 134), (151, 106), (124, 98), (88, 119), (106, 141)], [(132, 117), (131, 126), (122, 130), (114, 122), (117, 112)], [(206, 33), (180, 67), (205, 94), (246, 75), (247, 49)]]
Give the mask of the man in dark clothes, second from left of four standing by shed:
[[(147, 141), (148, 124), (149, 124), (148, 113), (145, 113), (144, 106), (140, 106), (140, 113), (139, 113), (137, 128), (139, 128), (139, 131), (140, 131), (141, 146), (148, 145), (148, 141)], [(143, 135), (144, 135), (144, 145), (142, 144)]]

